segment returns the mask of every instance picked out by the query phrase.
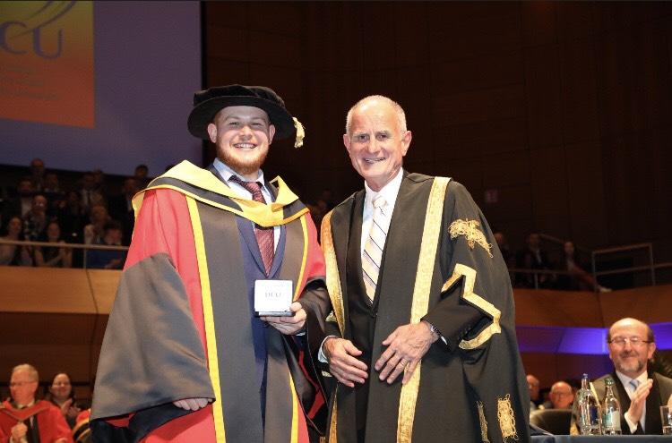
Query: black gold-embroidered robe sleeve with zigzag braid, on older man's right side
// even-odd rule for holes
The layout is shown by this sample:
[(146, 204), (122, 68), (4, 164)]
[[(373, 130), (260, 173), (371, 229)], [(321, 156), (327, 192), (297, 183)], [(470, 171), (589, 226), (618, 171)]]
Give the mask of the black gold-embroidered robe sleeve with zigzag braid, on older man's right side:
[(426, 319), (459, 353), (473, 413), (489, 441), (527, 441), (530, 395), (515, 336), (511, 281), (486, 218), (460, 183), (448, 186), (443, 227), (448, 279), (444, 300)]

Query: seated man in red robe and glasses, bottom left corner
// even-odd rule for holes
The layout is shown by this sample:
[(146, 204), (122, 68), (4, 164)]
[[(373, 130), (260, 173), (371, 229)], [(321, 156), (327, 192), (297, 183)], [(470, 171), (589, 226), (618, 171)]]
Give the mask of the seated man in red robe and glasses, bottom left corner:
[(12, 401), (0, 406), (0, 441), (72, 443), (70, 427), (55, 405), (36, 400), (39, 374), (30, 364), (14, 367), (9, 383)]

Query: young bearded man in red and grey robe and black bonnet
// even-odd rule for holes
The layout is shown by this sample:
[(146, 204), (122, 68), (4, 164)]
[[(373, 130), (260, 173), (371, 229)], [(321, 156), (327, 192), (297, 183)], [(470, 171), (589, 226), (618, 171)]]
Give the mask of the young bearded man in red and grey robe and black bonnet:
[[(195, 94), (189, 131), (217, 158), (182, 162), (134, 197), (93, 394), (96, 441), (308, 441), (323, 396), (295, 336), (306, 319), (296, 300), (324, 291), (323, 255), (306, 206), (260, 169), (295, 122), (298, 141), (268, 88)], [(289, 281), (293, 316), (255, 316), (266, 280)]]

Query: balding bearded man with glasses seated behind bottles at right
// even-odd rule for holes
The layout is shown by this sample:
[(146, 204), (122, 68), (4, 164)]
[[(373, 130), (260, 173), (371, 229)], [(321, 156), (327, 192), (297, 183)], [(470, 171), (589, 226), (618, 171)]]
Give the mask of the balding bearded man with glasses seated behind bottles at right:
[[(614, 395), (621, 405), (621, 430), (628, 434), (662, 434), (660, 406), (672, 400), (672, 379), (648, 371), (648, 362), (656, 350), (653, 331), (638, 319), (619, 319), (607, 334), (609, 358), (615, 371), (595, 380), (592, 385), (604, 401), (605, 380), (614, 380)], [(574, 406), (572, 433), (576, 433)]]

